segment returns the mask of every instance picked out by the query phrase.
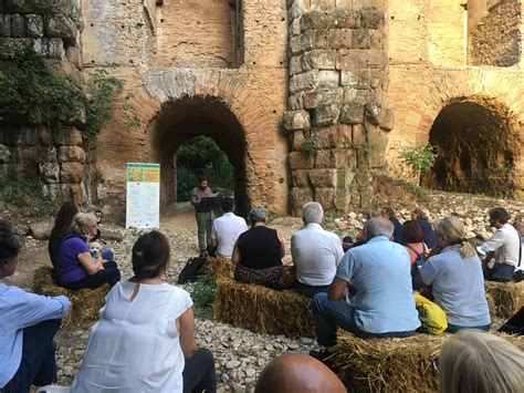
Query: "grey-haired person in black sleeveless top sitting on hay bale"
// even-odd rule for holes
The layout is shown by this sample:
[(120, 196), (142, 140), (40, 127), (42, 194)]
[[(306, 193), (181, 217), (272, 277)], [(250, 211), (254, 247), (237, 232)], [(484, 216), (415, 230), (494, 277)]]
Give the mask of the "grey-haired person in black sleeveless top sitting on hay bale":
[(274, 285), (282, 277), (284, 240), (275, 229), (265, 226), (265, 210), (252, 209), (248, 216), (251, 229), (239, 236), (231, 261), (234, 279), (245, 283)]

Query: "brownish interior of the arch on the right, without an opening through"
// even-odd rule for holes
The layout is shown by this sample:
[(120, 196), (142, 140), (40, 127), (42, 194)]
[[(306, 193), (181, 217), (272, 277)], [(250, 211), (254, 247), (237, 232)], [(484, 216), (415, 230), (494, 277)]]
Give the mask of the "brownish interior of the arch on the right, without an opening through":
[(422, 178), (426, 186), (448, 192), (512, 196), (520, 142), (507, 111), (485, 102), (449, 104), (429, 135), (438, 158)]

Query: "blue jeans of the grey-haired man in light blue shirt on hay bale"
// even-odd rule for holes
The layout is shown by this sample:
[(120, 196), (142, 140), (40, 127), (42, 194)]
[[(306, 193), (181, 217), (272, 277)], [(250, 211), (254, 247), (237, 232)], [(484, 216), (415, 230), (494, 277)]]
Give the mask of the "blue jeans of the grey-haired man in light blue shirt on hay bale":
[(333, 347), (336, 343), (337, 327), (363, 339), (404, 338), (415, 333), (407, 332), (368, 333), (357, 328), (355, 308), (345, 300), (329, 300), (327, 293), (317, 293), (313, 298), (313, 320), (316, 341), (319, 345)]

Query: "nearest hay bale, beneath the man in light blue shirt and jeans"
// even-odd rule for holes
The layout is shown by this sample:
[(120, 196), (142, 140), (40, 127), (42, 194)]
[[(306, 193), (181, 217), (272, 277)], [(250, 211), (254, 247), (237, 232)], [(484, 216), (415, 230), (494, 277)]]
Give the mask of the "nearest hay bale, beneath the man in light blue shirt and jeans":
[[(524, 350), (524, 337), (500, 335)], [(438, 381), (431, 361), (449, 337), (363, 340), (339, 330), (332, 360), (352, 392), (436, 392)]]

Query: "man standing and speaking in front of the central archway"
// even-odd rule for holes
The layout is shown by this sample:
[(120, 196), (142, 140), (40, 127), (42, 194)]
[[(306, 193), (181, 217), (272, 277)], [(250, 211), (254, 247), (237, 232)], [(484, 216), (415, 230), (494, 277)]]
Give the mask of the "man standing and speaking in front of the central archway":
[(211, 209), (207, 204), (201, 204), (202, 198), (214, 197), (211, 188), (208, 187), (208, 178), (199, 176), (198, 186), (191, 189), (189, 200), (195, 206), (198, 227), (198, 248), (200, 252), (207, 252), (208, 245), (211, 244)]

